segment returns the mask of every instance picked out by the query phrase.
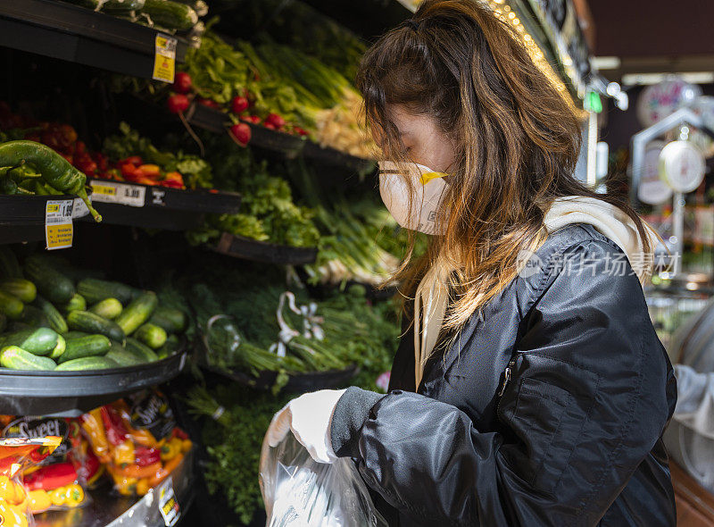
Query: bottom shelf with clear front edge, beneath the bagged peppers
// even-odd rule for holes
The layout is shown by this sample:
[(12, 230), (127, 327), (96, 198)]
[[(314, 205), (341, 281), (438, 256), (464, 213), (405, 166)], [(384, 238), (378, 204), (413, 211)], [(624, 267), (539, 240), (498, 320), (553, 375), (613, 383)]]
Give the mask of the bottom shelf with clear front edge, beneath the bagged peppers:
[(87, 506), (67, 511), (49, 511), (35, 514), (35, 523), (42, 527), (165, 527), (159, 513), (160, 496), (173, 489), (181, 514), (186, 514), (195, 497), (194, 481), (195, 450), (187, 453), (184, 460), (171, 473), (170, 479), (150, 490), (143, 498), (117, 496), (112, 487), (104, 485), (89, 490), (91, 501)]

